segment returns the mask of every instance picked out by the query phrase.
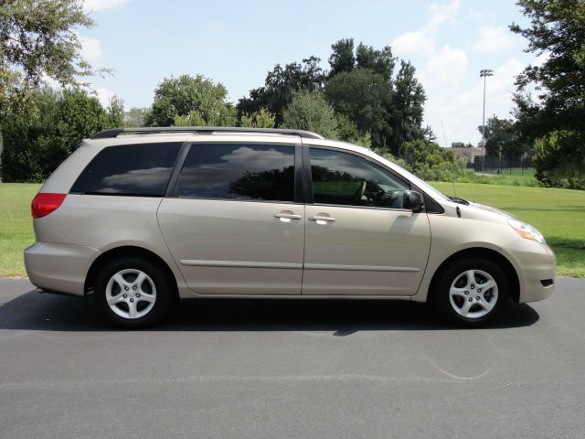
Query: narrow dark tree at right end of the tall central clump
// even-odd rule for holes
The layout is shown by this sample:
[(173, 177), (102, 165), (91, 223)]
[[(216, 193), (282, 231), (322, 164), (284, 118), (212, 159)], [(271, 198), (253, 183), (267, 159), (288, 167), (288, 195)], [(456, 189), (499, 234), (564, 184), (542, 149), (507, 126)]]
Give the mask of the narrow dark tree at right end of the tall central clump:
[(400, 61), (400, 70), (394, 81), (394, 97), (389, 109), (391, 136), (388, 146), (396, 154), (399, 146), (422, 137), (421, 125), (426, 95), (415, 76), (410, 62)]

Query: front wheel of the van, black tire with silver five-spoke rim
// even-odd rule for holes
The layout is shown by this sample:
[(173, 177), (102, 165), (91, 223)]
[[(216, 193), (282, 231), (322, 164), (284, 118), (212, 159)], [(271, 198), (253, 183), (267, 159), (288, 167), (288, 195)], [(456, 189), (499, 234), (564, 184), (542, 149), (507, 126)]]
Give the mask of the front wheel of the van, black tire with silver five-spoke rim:
[[(472, 277), (475, 282), (469, 281)], [(495, 288), (481, 288), (490, 276), (495, 281)], [(455, 281), (457, 283), (455, 284)], [(451, 294), (455, 288), (461, 291), (461, 297)], [(452, 262), (439, 276), (431, 292), (431, 305), (446, 322), (459, 327), (484, 327), (504, 315), (510, 296), (511, 283), (505, 271), (495, 262), (484, 259), (462, 259)], [(483, 290), (478, 293), (479, 290)], [(457, 293), (459, 294), (459, 292)], [(465, 295), (463, 295), (465, 294)], [(484, 294), (486, 294), (484, 296)], [(480, 297), (478, 299), (478, 297)], [(480, 303), (480, 301), (483, 301)], [(492, 302), (494, 301), (494, 302)], [(467, 303), (466, 303), (467, 302)], [(486, 306), (492, 306), (485, 315)], [(469, 307), (467, 316), (464, 308)], [(456, 309), (457, 308), (457, 309)], [(459, 311), (458, 311), (459, 310)]]

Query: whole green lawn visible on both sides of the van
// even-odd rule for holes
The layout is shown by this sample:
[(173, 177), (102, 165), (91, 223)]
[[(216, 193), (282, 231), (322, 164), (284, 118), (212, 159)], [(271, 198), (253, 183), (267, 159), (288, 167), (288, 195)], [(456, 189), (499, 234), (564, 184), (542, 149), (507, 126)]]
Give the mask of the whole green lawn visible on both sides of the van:
[[(453, 195), (452, 183), (433, 183)], [(0, 276), (26, 276), (23, 250), (35, 241), (30, 201), (37, 184), (0, 183)], [(455, 183), (457, 196), (506, 210), (547, 238), (560, 276), (585, 277), (585, 191)]]

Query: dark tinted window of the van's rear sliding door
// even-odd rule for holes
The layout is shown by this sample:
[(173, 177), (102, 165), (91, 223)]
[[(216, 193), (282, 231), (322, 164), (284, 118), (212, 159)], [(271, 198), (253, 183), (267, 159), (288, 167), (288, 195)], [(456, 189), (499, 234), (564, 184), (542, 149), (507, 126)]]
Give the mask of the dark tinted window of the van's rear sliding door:
[(294, 200), (294, 147), (193, 145), (179, 177), (181, 197)]

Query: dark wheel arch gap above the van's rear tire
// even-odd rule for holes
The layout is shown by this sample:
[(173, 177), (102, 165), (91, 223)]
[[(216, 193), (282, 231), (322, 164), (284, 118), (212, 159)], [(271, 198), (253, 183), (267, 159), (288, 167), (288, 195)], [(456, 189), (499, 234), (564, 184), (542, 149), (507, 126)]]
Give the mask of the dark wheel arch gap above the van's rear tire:
[(151, 252), (150, 250), (146, 250), (142, 247), (137, 247), (133, 245), (125, 245), (122, 247), (115, 247), (113, 249), (110, 249), (107, 252), (101, 253), (101, 255), (91, 263), (90, 270), (88, 271), (88, 274), (85, 277), (84, 284), (85, 294), (88, 294), (93, 289), (95, 285), (96, 276), (100, 272), (101, 268), (103, 268), (107, 263), (123, 257), (145, 259), (154, 262), (157, 266), (162, 268), (166, 278), (173, 287), (173, 294), (175, 295), (176, 299), (178, 299), (178, 286), (176, 282), (176, 277), (171, 268), (165, 262), (165, 260), (163, 260), (156, 253)]

